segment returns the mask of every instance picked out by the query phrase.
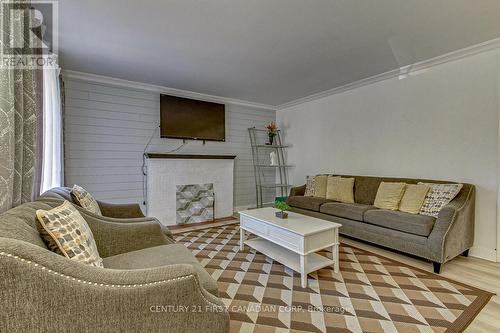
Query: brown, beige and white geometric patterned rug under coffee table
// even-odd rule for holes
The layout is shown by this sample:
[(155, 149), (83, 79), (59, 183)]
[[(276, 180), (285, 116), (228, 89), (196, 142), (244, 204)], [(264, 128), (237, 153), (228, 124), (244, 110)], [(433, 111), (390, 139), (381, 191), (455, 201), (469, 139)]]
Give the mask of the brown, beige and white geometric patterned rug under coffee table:
[(231, 332), (462, 332), (492, 296), (346, 244), (339, 273), (311, 273), (302, 288), (287, 267), (240, 251), (238, 224), (174, 237), (218, 281)]

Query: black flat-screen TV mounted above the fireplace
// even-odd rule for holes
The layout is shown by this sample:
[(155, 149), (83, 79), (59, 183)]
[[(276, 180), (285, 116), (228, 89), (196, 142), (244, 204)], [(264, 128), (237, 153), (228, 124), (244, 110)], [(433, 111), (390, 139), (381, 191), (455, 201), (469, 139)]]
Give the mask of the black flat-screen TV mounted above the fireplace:
[(225, 141), (225, 105), (161, 95), (160, 136)]

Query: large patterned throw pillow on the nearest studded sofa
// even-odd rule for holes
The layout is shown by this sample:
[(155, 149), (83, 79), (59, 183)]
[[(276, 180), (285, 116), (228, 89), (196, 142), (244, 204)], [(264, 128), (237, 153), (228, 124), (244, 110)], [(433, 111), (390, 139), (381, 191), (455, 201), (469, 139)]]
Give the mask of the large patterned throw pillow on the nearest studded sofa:
[(69, 201), (51, 210), (39, 209), (36, 216), (37, 229), (51, 251), (87, 265), (103, 267), (92, 231)]

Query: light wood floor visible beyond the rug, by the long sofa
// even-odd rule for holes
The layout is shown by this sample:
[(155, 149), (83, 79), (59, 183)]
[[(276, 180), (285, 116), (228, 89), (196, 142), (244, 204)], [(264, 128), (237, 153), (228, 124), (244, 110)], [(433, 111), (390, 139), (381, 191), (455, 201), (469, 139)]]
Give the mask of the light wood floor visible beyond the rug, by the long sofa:
[[(432, 272), (432, 263), (424, 260), (344, 237), (341, 237), (341, 242)], [(500, 263), (470, 256), (468, 258), (460, 256), (444, 264), (440, 275), (495, 293), (496, 295), (491, 298), (490, 302), (467, 327), (465, 332), (500, 332)]]

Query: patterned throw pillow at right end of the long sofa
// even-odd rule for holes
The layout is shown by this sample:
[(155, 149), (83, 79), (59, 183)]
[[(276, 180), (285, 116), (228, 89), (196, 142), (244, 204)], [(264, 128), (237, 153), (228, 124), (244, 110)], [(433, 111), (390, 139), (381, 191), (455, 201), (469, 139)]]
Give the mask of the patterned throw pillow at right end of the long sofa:
[(463, 187), (463, 184), (418, 184), (427, 185), (431, 188), (425, 196), (424, 204), (420, 208), (420, 214), (433, 217), (438, 217), (441, 209), (453, 200)]

